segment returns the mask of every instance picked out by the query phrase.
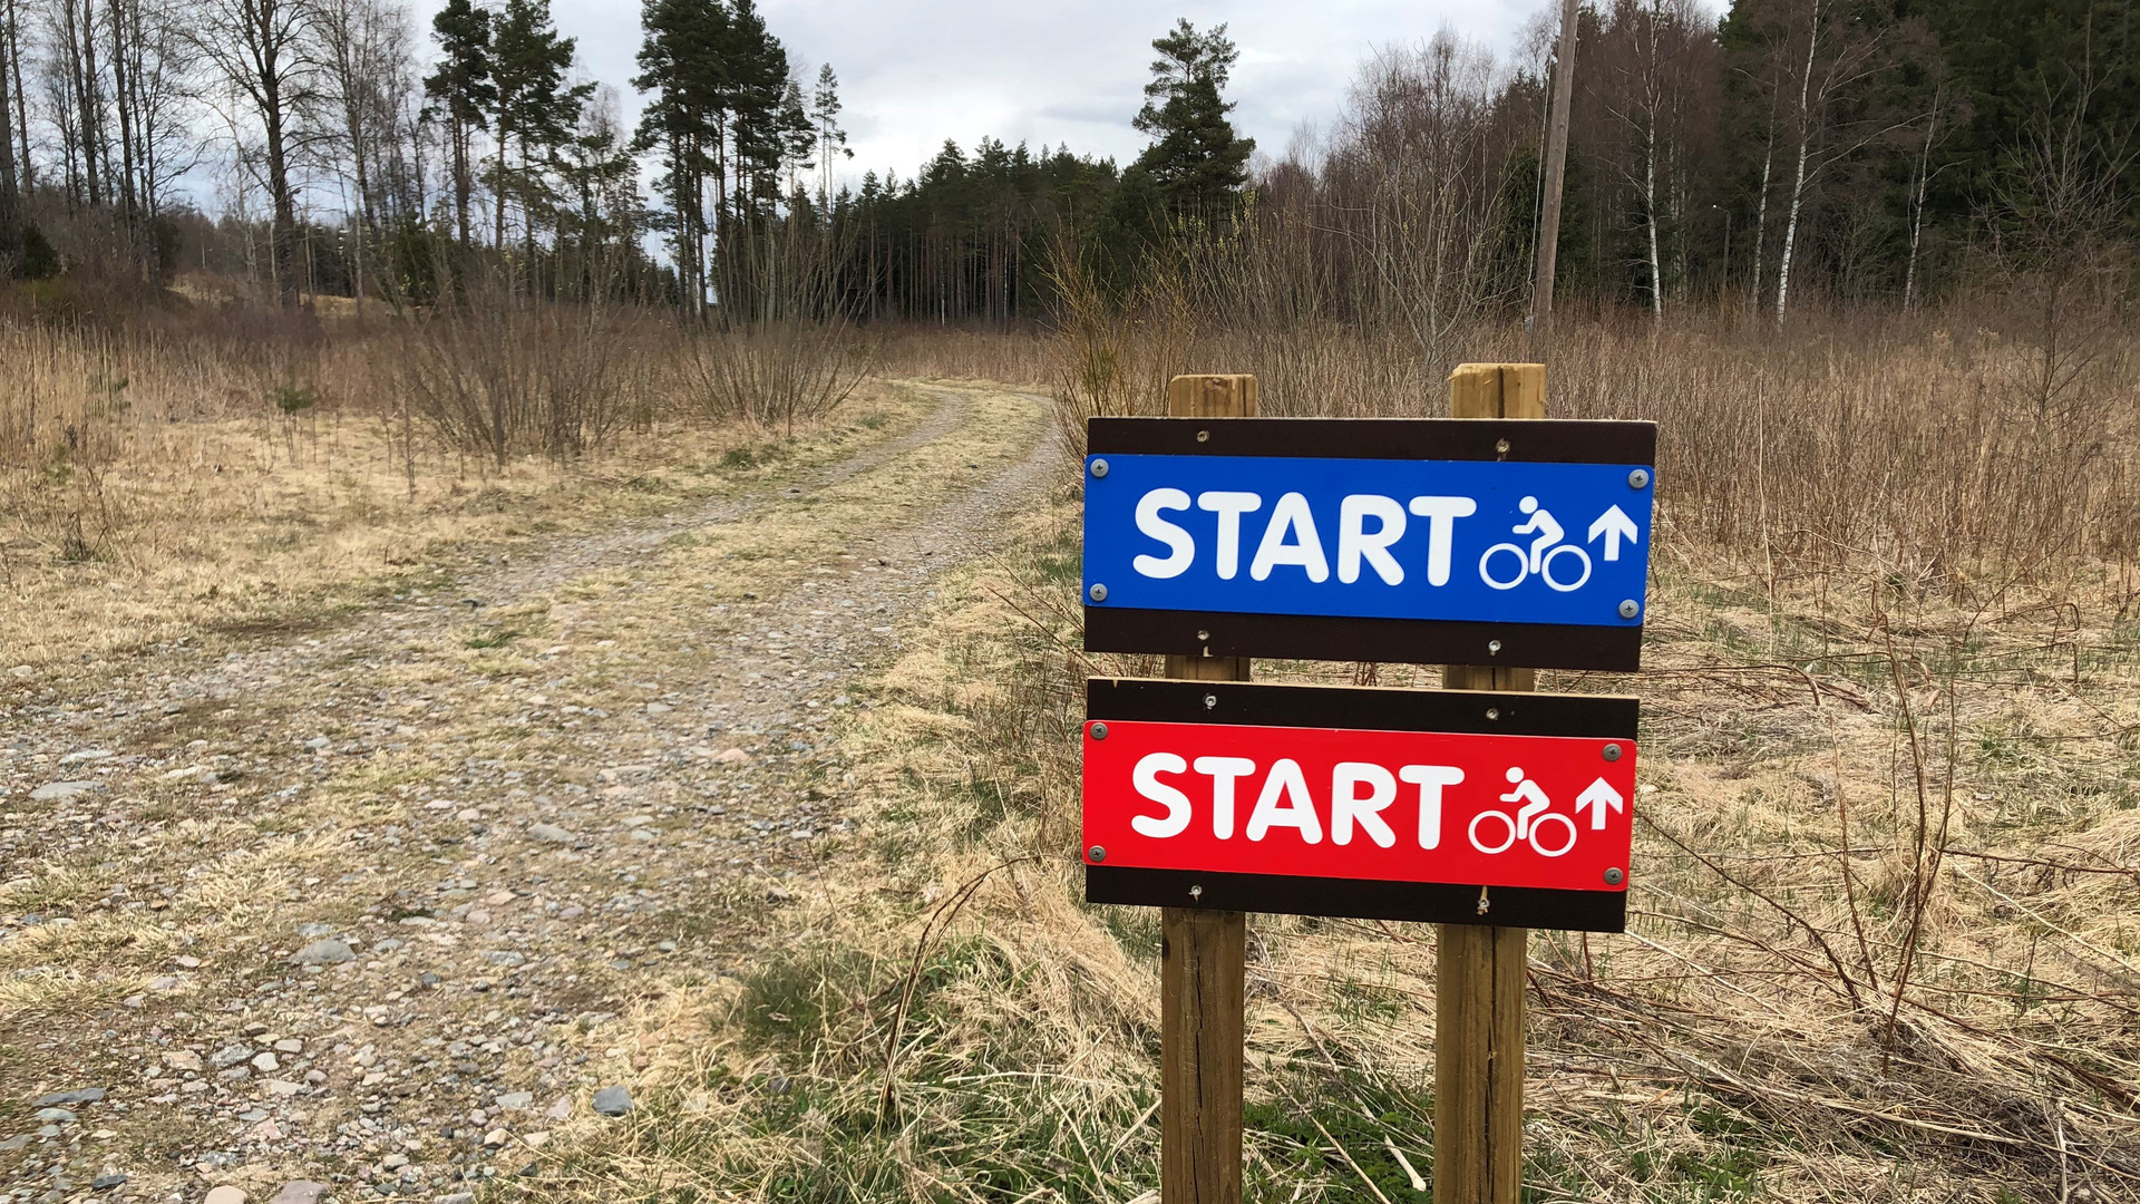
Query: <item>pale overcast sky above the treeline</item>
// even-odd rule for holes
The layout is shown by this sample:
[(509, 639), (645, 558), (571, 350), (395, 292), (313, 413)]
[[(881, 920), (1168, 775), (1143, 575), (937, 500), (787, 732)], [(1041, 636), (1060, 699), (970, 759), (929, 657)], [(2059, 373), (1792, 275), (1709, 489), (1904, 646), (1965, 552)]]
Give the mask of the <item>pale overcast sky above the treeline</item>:
[[(1226, 21), (1241, 62), (1235, 120), (1258, 148), (1280, 154), (1301, 122), (1327, 124), (1359, 62), (1380, 45), (1417, 43), (1449, 26), (1507, 54), (1549, 0), (1241, 0), (1233, 4), (1143, 0), (760, 0), (792, 60), (839, 73), (854, 163), (843, 171), (897, 169), (901, 178), (944, 139), (972, 148), (982, 135), (1008, 144), (1068, 141), (1079, 154), (1128, 163), (1145, 139), (1130, 129), (1143, 103), (1151, 39), (1175, 17), (1198, 28)], [(426, 36), (430, 9), (426, 6)], [(638, 99), (625, 81), (640, 45), (631, 0), (552, 0), (559, 28), (580, 39), (580, 62), (618, 86), (627, 116)], [(430, 47), (426, 45), (426, 54)]]

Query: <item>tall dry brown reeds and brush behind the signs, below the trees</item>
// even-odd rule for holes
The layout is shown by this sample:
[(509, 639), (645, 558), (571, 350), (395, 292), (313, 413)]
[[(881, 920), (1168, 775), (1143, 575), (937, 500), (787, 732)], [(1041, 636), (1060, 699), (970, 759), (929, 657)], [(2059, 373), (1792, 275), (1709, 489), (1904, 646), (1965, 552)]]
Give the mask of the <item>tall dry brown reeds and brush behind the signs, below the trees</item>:
[[(1513, 321), (1468, 323), (1447, 360), (1430, 360), (1408, 326), (1273, 304), (1256, 253), (1181, 261), (1194, 255), (1207, 259), (1179, 270), (1237, 287), (1203, 285), (1188, 315), (1057, 272), (1053, 392), (1072, 450), (1094, 413), (1156, 413), (1171, 373), (1254, 373), (1271, 416), (1438, 416), (1453, 360), (1524, 358)], [(1943, 583), (2089, 572), (2140, 555), (2140, 413), (2110, 405), (2140, 388), (2140, 364), (2101, 308), (2112, 294), (2089, 287), (2095, 308), (2065, 289), (2061, 326), (2029, 319), (2042, 294), (2020, 289), (1939, 315), (1806, 308), (1791, 338), (1727, 311), (1684, 308), (1665, 330), (1571, 311), (1556, 321), (1547, 405), (1554, 418), (1656, 420), (1661, 538), (1721, 551), (1772, 587), (1838, 570)]]

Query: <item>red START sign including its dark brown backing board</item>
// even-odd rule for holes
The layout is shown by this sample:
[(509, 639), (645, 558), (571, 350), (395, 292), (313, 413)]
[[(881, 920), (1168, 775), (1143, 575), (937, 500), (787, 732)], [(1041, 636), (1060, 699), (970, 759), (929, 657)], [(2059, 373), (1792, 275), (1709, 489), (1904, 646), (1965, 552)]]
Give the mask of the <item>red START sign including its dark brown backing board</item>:
[[(1089, 876), (1164, 893), (1188, 874), (1186, 889), (1226, 883), (1233, 898), (1314, 881), (1323, 896), (1248, 910), (1393, 915), (1346, 902), (1404, 885), (1464, 887), (1487, 906), (1481, 887), (1609, 893), (1624, 910), (1629, 698), (1096, 681), (1087, 713)], [(1286, 722), (1310, 713), (1348, 726)]]

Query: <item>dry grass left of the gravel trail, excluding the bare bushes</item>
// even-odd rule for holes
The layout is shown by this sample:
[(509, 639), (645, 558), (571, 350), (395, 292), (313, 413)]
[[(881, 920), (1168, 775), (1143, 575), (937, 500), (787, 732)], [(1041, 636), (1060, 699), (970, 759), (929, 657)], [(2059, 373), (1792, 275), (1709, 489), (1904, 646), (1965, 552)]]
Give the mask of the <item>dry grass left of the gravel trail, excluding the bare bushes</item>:
[(398, 349), (362, 328), (235, 347), (0, 326), (0, 668), (302, 623), (725, 497), (924, 409), (871, 383), (788, 435), (663, 394), (578, 456), (499, 465), (409, 420)]

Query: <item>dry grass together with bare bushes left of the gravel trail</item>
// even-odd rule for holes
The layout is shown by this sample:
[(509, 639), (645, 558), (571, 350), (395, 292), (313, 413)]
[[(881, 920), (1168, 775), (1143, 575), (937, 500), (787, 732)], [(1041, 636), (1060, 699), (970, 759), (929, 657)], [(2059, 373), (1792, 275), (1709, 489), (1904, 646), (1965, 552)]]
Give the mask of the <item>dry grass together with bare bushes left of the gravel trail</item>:
[[(674, 510), (843, 446), (826, 426), (837, 398), (777, 411), (704, 392), (717, 338), (576, 306), (385, 323), (205, 311), (133, 330), (0, 319), (6, 664), (353, 604), (447, 559)], [(901, 366), (939, 371), (920, 349)], [(860, 396), (850, 424), (895, 420), (882, 386)]]

